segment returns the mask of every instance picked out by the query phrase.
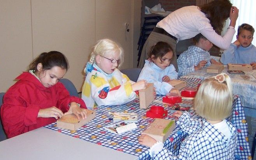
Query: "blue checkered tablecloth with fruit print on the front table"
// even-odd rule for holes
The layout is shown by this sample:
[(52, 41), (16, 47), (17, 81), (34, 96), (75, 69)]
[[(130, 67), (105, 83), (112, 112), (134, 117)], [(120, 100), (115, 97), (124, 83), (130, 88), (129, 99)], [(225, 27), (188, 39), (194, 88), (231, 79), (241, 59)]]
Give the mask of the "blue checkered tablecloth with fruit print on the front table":
[[(197, 87), (198, 83), (202, 82), (202, 80), (198, 78), (181, 78), (181, 80), (185, 80), (187, 82), (187, 86), (189, 87)], [(151, 103), (150, 106), (153, 105), (163, 106), (165, 110), (168, 110), (168, 116), (165, 119), (174, 119), (174, 117), (171, 115), (174, 110), (171, 110), (172, 107), (170, 105), (162, 103), (162, 96), (156, 96), (155, 101)], [(193, 101), (182, 100), (180, 105), (192, 107)], [(148, 151), (149, 148), (140, 145), (137, 139), (137, 137), (140, 136), (142, 130), (153, 120), (152, 118), (146, 117), (146, 111), (149, 110), (149, 108), (146, 110), (140, 109), (139, 98), (137, 97), (135, 100), (123, 105), (100, 106), (93, 108), (93, 110), (96, 111), (96, 118), (86, 123), (86, 125), (82, 126), (77, 131), (58, 128), (56, 127), (56, 123), (51, 123), (45, 127), (48, 129), (56, 130), (62, 134), (67, 134), (76, 138), (84, 139), (85, 141), (89, 141), (91, 143), (96, 143), (104, 147), (112, 148), (113, 150), (123, 151), (125, 153), (138, 156), (140, 160), (151, 159)], [(229, 120), (235, 125), (235, 127), (237, 127), (239, 137), (237, 144), (238, 147), (235, 155), (238, 159), (247, 159), (247, 157), (250, 156), (247, 123), (245, 121), (244, 111), (238, 96), (234, 96), (233, 108), (233, 115)], [(108, 132), (107, 130), (103, 129), (103, 127), (112, 123), (113, 116), (109, 115), (109, 111), (127, 111), (138, 113), (138, 128), (129, 132), (125, 132), (121, 135)], [(189, 110), (189, 112), (191, 115), (193, 115), (193, 117), (198, 117), (194, 110)], [(186, 138), (186, 136), (186, 133), (182, 132), (181, 128), (176, 125), (174, 131), (172, 134), (170, 134), (164, 145), (166, 148), (172, 151), (174, 155), (178, 155), (179, 146), (181, 142)]]

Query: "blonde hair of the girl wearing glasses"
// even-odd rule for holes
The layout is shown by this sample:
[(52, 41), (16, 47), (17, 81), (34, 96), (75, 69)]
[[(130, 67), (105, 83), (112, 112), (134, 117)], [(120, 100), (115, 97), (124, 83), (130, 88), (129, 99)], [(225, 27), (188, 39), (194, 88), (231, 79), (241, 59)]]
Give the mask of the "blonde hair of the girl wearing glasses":
[(93, 47), (93, 52), (91, 52), (89, 63), (93, 64), (95, 63), (95, 57), (97, 55), (99, 56), (106, 56), (109, 54), (113, 54), (115, 52), (119, 53), (119, 64), (118, 67), (121, 66), (124, 62), (124, 56), (123, 56), (123, 48), (117, 44), (116, 42), (110, 40), (110, 39), (102, 39), (99, 40), (96, 45)]

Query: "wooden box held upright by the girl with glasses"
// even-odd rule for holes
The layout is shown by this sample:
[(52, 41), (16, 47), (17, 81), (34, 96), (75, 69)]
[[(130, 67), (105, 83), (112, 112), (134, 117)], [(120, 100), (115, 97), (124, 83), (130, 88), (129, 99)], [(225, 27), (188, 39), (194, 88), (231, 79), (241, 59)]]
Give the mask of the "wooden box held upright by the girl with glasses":
[(140, 108), (146, 109), (154, 101), (154, 83), (147, 83), (146, 89), (139, 90)]

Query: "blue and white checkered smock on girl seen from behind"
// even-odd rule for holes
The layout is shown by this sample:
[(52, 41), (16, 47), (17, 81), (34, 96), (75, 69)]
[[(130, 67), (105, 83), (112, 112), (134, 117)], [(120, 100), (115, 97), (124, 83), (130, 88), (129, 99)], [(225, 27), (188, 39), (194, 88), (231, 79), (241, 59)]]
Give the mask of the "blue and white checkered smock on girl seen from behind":
[(228, 123), (231, 138), (225, 137), (213, 125), (202, 119), (202, 128), (198, 129), (198, 120), (193, 121), (188, 112), (184, 112), (177, 122), (185, 132), (193, 132), (182, 143), (179, 155), (174, 156), (166, 148), (151, 153), (157, 160), (232, 160), (235, 158), (237, 133), (235, 127)]

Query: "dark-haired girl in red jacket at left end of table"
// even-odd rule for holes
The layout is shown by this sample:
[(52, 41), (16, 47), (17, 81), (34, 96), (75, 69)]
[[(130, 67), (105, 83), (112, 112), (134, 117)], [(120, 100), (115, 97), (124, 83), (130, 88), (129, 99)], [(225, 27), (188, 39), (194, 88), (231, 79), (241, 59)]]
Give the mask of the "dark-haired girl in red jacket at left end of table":
[(84, 101), (70, 96), (59, 82), (67, 70), (68, 61), (61, 52), (44, 52), (30, 64), (29, 71), (16, 78), (18, 82), (7, 90), (1, 107), (7, 137), (48, 125), (71, 113), (86, 118), (86, 111), (81, 110), (86, 108)]

